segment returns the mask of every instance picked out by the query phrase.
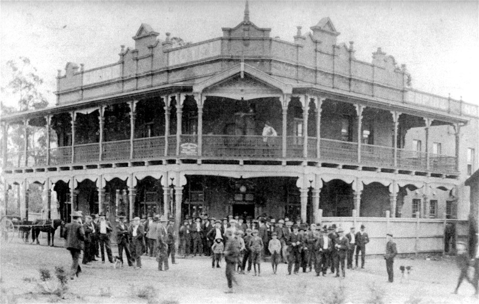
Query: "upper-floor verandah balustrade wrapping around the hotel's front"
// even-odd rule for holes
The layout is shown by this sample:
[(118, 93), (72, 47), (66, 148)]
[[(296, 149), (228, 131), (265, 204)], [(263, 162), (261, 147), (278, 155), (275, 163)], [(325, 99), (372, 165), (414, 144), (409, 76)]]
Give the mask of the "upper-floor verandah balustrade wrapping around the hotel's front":
[[(177, 146), (177, 136), (168, 136), (168, 144), (164, 136), (139, 138), (133, 140), (133, 158), (130, 158), (131, 141), (115, 141), (102, 143), (101, 160), (129, 161), (135, 159), (154, 159), (165, 157), (198, 157), (198, 135), (180, 135), (180, 145)], [(286, 158), (303, 157), (303, 137), (287, 137)], [(307, 158), (317, 159), (316, 138), (308, 137)], [(74, 162), (98, 162), (99, 143), (75, 145)], [(178, 148), (178, 152), (177, 152)], [(321, 161), (357, 163), (357, 143), (332, 139), (320, 139)], [(46, 150), (27, 151), (27, 166), (46, 165)], [(243, 135), (203, 135), (202, 153), (205, 158), (282, 158), (282, 137), (243, 136)], [(425, 152), (397, 149), (397, 168), (428, 170)], [(71, 147), (50, 149), (50, 165), (71, 164)], [(23, 152), (9, 152), (5, 167), (23, 167), (25, 164)], [(394, 148), (375, 145), (361, 145), (360, 165), (394, 166)], [(436, 172), (455, 172), (456, 157), (430, 154), (429, 169)]]

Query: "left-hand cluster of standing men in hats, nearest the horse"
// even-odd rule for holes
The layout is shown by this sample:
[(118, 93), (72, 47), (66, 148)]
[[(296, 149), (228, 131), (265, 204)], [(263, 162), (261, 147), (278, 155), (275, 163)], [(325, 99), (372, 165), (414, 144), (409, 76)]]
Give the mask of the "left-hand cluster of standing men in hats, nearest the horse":
[[(66, 224), (61, 236), (66, 239), (66, 248), (72, 256), (70, 278), (78, 277), (81, 272), (79, 257), (83, 251), (82, 264), (99, 261), (105, 263), (105, 251), (110, 263), (123, 266), (125, 252), (128, 266), (136, 263), (135, 269), (141, 268), (141, 256), (155, 256), (158, 270), (167, 271), (168, 257), (171, 255), (175, 264), (174, 219), (155, 215), (151, 221), (135, 217), (130, 225), (125, 223), (125, 216), (119, 216), (115, 228), (105, 219), (105, 214), (86, 215), (83, 221), (81, 211), (73, 211), (72, 221)], [(116, 233), (118, 256), (111, 251), (111, 235)], [(98, 259), (97, 259), (98, 258)]]

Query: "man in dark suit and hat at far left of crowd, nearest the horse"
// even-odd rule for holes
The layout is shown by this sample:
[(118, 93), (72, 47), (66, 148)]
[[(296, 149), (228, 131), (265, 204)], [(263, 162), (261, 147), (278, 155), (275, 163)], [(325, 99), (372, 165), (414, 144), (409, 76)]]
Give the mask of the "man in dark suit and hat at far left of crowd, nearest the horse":
[(78, 265), (78, 259), (80, 258), (81, 248), (83, 241), (85, 240), (85, 231), (81, 223), (81, 213), (73, 211), (71, 214), (72, 221), (65, 225), (63, 228), (62, 236), (66, 238), (66, 249), (71, 254), (71, 268), (70, 279), (73, 280), (75, 276), (81, 272), (80, 265)]

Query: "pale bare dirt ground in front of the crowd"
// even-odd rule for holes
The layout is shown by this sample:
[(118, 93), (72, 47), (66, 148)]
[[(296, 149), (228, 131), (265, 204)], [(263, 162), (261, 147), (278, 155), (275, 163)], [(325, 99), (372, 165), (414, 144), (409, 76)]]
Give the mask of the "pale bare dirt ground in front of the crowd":
[[(55, 241), (63, 244), (63, 240)], [(451, 294), (459, 272), (448, 257), (437, 261), (397, 259), (394, 283), (387, 283), (385, 262), (380, 258), (366, 258), (366, 268), (347, 270), (345, 279), (329, 273), (315, 277), (314, 271), (287, 276), (286, 264), (280, 264), (273, 275), (270, 263), (263, 262), (261, 277), (236, 275), (239, 285), (234, 286), (233, 294), (224, 293), (224, 262), (221, 269), (212, 269), (207, 257), (177, 259), (179, 264), (170, 264), (168, 272), (157, 271), (156, 261), (147, 257), (142, 258), (143, 267), (138, 270), (93, 262), (82, 265), (81, 276), (68, 282), (68, 292), (61, 299), (40, 293), (38, 269), (48, 268), (53, 273), (55, 266), (63, 266), (68, 270), (70, 254), (61, 247), (45, 246), (46, 239), (40, 242), (40, 246), (19, 240), (1, 244), (2, 303), (331, 303), (331, 293), (340, 287), (344, 303), (478, 303), (467, 282), (458, 295)], [(401, 265), (413, 266), (409, 282), (401, 282)], [(138, 297), (138, 290), (147, 286), (157, 290), (150, 300)]]

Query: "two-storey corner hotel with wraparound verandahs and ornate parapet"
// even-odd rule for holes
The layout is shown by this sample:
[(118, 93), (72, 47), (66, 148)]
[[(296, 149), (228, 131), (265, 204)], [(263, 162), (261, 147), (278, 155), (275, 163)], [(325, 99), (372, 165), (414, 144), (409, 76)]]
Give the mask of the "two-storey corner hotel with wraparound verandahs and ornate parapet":
[(266, 214), (365, 223), (378, 252), (386, 230), (402, 252), (441, 250), (444, 217), (469, 216), (478, 106), (410, 87), (381, 48), (356, 59), (328, 17), (310, 30), (270, 37), (246, 5), (218, 38), (176, 46), (141, 24), (118, 62), (67, 63), (55, 107), (2, 117), (24, 130), (2, 144), (5, 200), (27, 217), (40, 185), (63, 219)]

